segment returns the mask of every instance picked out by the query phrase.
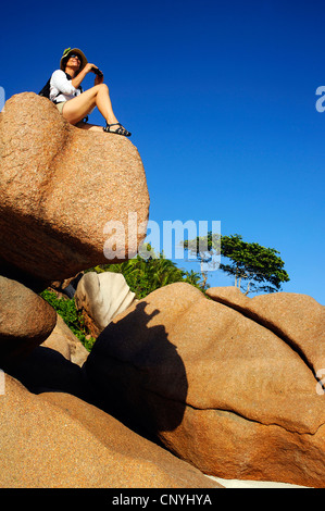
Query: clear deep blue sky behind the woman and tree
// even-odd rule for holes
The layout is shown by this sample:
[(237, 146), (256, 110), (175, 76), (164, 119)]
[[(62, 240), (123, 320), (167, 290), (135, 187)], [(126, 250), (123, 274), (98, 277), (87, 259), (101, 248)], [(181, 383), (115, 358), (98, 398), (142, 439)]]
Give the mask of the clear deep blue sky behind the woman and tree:
[(0, 86), (38, 92), (83, 49), (133, 132), (150, 219), (218, 220), (280, 252), (284, 291), (324, 304), (324, 27), (321, 0), (4, 2)]

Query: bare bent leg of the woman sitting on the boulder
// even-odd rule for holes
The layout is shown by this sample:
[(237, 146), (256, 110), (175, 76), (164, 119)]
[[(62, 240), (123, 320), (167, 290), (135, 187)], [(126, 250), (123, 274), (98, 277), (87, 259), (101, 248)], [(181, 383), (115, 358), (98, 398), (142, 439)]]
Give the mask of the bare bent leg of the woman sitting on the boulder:
[(62, 111), (63, 117), (71, 124), (77, 124), (97, 107), (108, 124), (117, 123), (114, 115), (109, 88), (105, 84), (95, 85), (76, 98), (67, 101)]

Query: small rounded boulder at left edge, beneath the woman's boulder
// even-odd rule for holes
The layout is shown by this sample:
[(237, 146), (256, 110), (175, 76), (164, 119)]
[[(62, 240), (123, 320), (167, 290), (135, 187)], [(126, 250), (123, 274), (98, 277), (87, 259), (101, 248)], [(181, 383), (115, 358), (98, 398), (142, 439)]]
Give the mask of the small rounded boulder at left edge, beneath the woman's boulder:
[(43, 342), (57, 313), (22, 284), (0, 276), (0, 367), (15, 363)]

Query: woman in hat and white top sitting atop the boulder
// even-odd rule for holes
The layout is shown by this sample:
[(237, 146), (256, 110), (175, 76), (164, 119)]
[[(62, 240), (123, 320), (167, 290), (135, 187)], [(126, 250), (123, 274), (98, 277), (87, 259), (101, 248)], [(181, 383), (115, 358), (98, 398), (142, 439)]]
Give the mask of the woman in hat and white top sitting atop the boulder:
[[(84, 92), (80, 84), (88, 73), (96, 74), (95, 84)], [(51, 76), (50, 100), (57, 104), (63, 117), (71, 124), (78, 125), (84, 129), (130, 136), (130, 133), (118, 123), (114, 115), (109, 88), (103, 83), (103, 74), (97, 65), (89, 64), (85, 54), (77, 48), (64, 50), (60, 70), (54, 71)], [(104, 128), (82, 123), (95, 107), (98, 108), (107, 122)]]

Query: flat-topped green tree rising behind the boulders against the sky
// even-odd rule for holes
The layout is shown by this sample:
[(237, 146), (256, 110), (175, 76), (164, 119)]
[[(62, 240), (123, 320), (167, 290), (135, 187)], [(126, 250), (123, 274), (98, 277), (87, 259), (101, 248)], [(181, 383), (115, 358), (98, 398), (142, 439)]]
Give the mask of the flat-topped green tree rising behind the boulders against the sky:
[[(235, 277), (235, 286), (239, 289), (247, 285), (248, 292), (275, 292), (279, 291), (282, 284), (289, 282), (289, 276), (284, 270), (284, 261), (279, 252), (273, 248), (265, 248), (257, 242), (247, 242), (238, 234), (232, 236), (217, 236), (211, 232), (204, 237), (208, 253), (200, 251), (199, 237), (184, 240), (185, 249), (195, 254), (198, 261), (208, 261), (212, 254), (221, 253), (227, 259), (227, 263), (221, 263), (220, 270)], [(202, 244), (201, 244), (202, 245)], [(205, 276), (207, 282), (207, 276)]]

